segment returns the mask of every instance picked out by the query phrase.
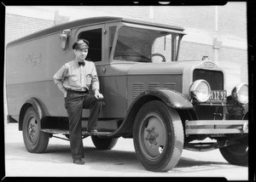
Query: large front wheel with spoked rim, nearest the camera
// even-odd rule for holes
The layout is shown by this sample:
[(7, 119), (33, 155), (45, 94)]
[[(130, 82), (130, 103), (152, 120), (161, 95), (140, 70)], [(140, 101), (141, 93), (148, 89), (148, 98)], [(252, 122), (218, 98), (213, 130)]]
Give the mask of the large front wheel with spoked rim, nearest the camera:
[(177, 111), (153, 100), (137, 113), (133, 144), (137, 158), (149, 171), (166, 172), (177, 165), (183, 151), (183, 124)]

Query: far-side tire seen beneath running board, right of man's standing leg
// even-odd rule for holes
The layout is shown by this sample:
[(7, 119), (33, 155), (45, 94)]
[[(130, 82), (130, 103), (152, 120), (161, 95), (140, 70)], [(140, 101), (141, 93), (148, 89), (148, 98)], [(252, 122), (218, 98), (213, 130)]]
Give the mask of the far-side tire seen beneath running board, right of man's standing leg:
[(118, 138), (100, 138), (98, 136), (91, 136), (91, 140), (97, 149), (111, 150), (116, 145)]

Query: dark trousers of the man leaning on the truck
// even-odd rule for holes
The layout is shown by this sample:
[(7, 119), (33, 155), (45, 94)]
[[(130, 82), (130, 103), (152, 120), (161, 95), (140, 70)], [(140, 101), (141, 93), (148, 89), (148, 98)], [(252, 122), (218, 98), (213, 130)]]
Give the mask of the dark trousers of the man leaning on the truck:
[(82, 112), (90, 109), (90, 117), (87, 128), (96, 129), (96, 123), (102, 110), (102, 100), (96, 100), (94, 95), (67, 91), (65, 108), (69, 119), (69, 140), (73, 159), (84, 158), (84, 146), (82, 139)]

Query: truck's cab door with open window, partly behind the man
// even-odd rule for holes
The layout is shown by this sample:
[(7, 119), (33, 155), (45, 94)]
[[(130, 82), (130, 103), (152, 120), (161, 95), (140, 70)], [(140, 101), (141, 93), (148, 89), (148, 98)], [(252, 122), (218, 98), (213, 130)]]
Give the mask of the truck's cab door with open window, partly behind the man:
[[(82, 27), (75, 35), (75, 40), (84, 38), (90, 43), (86, 60), (93, 61), (96, 65), (100, 92), (104, 96), (100, 117), (104, 118), (125, 117), (126, 113), (126, 98), (120, 95), (126, 95), (126, 77), (117, 75), (114, 66), (110, 64), (110, 54), (117, 24), (117, 22), (113, 22)], [(84, 116), (89, 117), (90, 112), (84, 110)]]

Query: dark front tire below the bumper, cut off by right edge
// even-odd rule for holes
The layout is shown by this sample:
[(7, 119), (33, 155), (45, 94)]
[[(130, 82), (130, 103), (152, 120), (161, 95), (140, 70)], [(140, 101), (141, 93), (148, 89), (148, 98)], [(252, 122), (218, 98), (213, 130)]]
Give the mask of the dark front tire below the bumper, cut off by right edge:
[[(247, 120), (248, 115), (243, 119)], [(248, 136), (240, 140), (236, 145), (230, 145), (219, 149), (221, 155), (230, 164), (248, 166)]]

